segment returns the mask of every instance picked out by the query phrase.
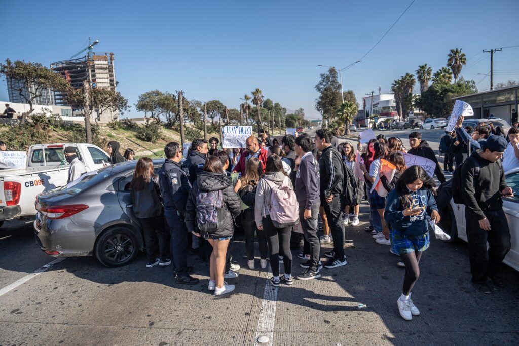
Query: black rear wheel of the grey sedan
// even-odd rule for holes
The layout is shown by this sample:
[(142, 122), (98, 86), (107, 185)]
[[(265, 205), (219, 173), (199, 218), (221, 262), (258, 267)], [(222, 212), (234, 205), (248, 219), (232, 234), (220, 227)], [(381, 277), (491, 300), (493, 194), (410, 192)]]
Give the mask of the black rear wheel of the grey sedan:
[(139, 245), (132, 231), (125, 227), (109, 229), (95, 243), (95, 257), (106, 267), (121, 267), (135, 258)]

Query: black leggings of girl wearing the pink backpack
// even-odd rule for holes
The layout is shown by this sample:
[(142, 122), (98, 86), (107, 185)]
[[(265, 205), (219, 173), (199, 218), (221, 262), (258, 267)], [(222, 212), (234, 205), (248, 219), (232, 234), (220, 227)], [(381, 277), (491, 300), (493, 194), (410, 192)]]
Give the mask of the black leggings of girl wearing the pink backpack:
[(267, 236), (267, 243), (270, 250), (270, 267), (272, 268), (272, 275), (279, 276), (279, 242), (281, 240), (281, 248), (283, 249), (283, 267), (285, 274), (292, 273), (292, 252), (290, 251), (290, 237), (292, 234), (292, 226), (285, 228), (276, 228), (272, 225), (270, 215), (267, 215), (262, 220), (263, 230)]

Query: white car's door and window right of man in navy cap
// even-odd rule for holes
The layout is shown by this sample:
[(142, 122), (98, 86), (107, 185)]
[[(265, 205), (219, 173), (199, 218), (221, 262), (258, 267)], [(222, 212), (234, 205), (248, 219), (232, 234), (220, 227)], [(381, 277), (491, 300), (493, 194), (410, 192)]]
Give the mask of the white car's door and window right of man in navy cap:
[[(512, 191), (519, 192), (519, 171), (508, 174), (506, 180)], [(519, 270), (519, 196), (504, 198), (503, 211), (507, 215), (512, 243), (504, 262), (515, 270)]]

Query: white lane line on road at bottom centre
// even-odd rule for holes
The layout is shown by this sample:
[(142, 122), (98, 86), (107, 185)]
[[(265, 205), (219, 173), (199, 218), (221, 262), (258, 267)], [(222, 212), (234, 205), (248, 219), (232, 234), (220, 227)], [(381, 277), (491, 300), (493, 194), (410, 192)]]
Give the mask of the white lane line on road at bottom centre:
[[(271, 273), (270, 265), (267, 270)], [(281, 274), (283, 275), (283, 274)], [(258, 326), (256, 329), (256, 337), (254, 338), (254, 345), (272, 346), (272, 339), (274, 339), (274, 324), (276, 322), (276, 301), (278, 300), (278, 288), (270, 284), (270, 278), (265, 280), (265, 290), (263, 291), (263, 300), (261, 303), (260, 317), (258, 318)], [(268, 342), (260, 343), (257, 339), (260, 336), (268, 337)]]

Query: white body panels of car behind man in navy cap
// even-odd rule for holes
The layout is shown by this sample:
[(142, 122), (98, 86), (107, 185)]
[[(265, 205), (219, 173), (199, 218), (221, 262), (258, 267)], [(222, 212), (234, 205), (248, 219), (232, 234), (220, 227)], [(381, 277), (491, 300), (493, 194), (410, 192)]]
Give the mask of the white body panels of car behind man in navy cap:
[[(505, 176), (507, 185), (516, 195), (503, 198), (503, 211), (507, 216), (512, 243), (512, 248), (503, 262), (519, 271), (519, 194), (517, 194), (519, 192), (519, 167), (506, 172)], [(456, 241), (458, 238), (467, 241), (465, 204), (454, 203), (450, 198), (449, 206), (450, 229), (444, 229), (444, 231), (451, 236), (451, 241)]]

